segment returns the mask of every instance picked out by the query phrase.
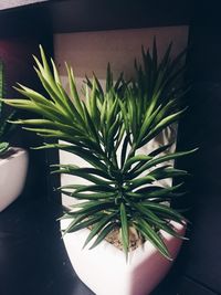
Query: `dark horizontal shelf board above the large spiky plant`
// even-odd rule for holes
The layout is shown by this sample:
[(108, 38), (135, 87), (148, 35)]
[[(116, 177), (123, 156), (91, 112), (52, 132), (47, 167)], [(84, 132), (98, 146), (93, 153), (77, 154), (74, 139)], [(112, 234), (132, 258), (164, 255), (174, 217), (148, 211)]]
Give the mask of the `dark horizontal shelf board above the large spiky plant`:
[(190, 0), (63, 0), (0, 10), (0, 36), (183, 25)]

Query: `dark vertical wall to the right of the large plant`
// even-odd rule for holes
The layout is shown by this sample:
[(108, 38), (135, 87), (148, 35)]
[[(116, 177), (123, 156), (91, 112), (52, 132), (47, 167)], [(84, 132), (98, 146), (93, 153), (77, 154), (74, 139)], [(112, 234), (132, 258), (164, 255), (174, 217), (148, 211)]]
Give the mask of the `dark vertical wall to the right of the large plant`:
[(190, 27), (189, 72), (192, 87), (189, 110), (179, 127), (180, 150), (199, 147), (191, 157), (177, 161), (190, 171), (183, 206), (191, 208), (190, 238), (183, 249), (183, 276), (192, 282), (180, 286), (180, 295), (221, 293), (221, 34), (218, 2), (196, 3)]

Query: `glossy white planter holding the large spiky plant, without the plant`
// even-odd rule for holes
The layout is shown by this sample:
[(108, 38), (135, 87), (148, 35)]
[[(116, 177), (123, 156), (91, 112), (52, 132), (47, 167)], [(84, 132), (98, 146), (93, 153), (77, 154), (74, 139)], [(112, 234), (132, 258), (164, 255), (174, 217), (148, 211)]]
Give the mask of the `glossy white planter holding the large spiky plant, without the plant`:
[[(61, 221), (62, 229), (67, 224), (67, 220)], [(179, 233), (185, 234), (182, 225), (173, 225)], [(96, 295), (147, 295), (172, 265), (149, 242), (133, 251), (128, 263), (125, 254), (106, 241), (93, 250), (83, 250), (88, 232), (85, 229), (69, 233), (64, 236), (64, 244), (76, 274)], [(161, 233), (176, 259), (182, 241), (166, 232)]]

